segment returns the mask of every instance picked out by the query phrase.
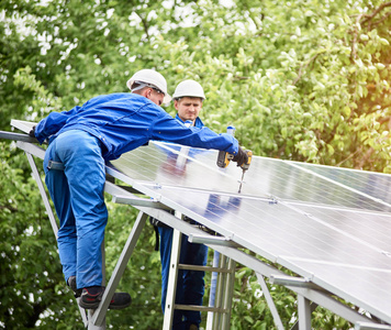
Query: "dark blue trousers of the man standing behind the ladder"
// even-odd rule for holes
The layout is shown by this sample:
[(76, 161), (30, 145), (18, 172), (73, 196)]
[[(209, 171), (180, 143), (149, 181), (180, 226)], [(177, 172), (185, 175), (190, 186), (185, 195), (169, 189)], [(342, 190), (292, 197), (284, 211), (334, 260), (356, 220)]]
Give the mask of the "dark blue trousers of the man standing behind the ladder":
[[(172, 228), (159, 227), (160, 234), (160, 260), (161, 260), (161, 308), (165, 311), (168, 273), (170, 268)], [(188, 237), (182, 235), (179, 262), (181, 264), (205, 266), (208, 261), (208, 246), (203, 244), (189, 243)], [(204, 276), (201, 271), (178, 271), (176, 304), (202, 305), (204, 294)], [(190, 324), (199, 326), (201, 312), (193, 310), (175, 310), (172, 330), (187, 330)]]

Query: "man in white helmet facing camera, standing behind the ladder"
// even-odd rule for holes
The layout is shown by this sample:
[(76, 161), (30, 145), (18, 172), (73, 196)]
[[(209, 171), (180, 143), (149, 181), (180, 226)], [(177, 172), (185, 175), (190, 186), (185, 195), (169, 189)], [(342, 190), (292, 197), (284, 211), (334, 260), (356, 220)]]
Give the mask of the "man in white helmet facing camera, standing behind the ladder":
[[(205, 95), (201, 85), (194, 80), (185, 80), (178, 84), (174, 98), (176, 119), (182, 123), (191, 122), (192, 127), (203, 128), (199, 118)], [(190, 220), (190, 222), (194, 222)], [(174, 229), (158, 224), (160, 237), (160, 261), (161, 261), (161, 308), (165, 311), (168, 274), (170, 268), (170, 256)], [(208, 261), (208, 246), (190, 243), (187, 235), (181, 238), (180, 264), (205, 266)], [(179, 270), (177, 277), (176, 304), (202, 306), (204, 294), (204, 277), (202, 271)], [(194, 310), (175, 310), (172, 330), (197, 330), (201, 322), (201, 312)]]

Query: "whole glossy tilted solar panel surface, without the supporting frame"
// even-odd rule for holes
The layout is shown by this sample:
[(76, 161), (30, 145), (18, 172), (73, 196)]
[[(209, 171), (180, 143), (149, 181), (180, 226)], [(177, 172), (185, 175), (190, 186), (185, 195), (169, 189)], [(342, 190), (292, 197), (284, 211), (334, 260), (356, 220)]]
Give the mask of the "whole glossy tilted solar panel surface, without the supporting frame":
[[(391, 177), (152, 142), (112, 164), (144, 194), (391, 322)], [(382, 191), (377, 191), (377, 184)], [(387, 195), (388, 196), (388, 195)]]

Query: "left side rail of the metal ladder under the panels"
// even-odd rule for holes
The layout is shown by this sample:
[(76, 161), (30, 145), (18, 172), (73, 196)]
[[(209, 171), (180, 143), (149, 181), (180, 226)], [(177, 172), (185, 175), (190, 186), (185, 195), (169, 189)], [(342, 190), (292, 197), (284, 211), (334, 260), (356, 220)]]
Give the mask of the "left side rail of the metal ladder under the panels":
[(163, 323), (163, 330), (170, 330), (172, 328), (181, 237), (182, 235), (181, 235), (180, 231), (175, 229), (174, 234), (172, 234), (170, 271), (169, 271), (169, 275), (168, 275), (166, 307), (165, 307), (165, 318), (164, 318), (164, 323)]

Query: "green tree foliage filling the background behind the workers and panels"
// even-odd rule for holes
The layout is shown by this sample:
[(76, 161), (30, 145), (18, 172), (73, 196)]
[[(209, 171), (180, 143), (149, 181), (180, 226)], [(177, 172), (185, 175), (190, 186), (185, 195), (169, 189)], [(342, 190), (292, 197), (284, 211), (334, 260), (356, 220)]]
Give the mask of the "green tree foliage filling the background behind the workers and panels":
[[(170, 92), (199, 80), (205, 124), (235, 125), (256, 155), (391, 173), (391, 2), (10, 0), (0, 12), (1, 130), (126, 91), (134, 72), (155, 68)], [(0, 142), (0, 328), (74, 329), (78, 310), (29, 164)], [(135, 212), (110, 205), (110, 217), (108, 274)], [(147, 229), (121, 282), (136, 308), (109, 315), (115, 328), (161, 324), (152, 238)], [(254, 275), (243, 270), (236, 280), (234, 329), (271, 329)], [(287, 326), (295, 299), (273, 293)], [(314, 322), (348, 327), (323, 311)]]

